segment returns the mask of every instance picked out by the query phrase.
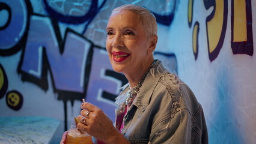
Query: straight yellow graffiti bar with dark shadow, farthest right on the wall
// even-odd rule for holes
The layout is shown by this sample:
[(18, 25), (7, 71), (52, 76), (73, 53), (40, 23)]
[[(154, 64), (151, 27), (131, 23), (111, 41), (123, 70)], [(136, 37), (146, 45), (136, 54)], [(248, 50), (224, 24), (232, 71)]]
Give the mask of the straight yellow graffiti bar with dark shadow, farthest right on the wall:
[(254, 53), (251, 0), (231, 1), (231, 48), (234, 54)]

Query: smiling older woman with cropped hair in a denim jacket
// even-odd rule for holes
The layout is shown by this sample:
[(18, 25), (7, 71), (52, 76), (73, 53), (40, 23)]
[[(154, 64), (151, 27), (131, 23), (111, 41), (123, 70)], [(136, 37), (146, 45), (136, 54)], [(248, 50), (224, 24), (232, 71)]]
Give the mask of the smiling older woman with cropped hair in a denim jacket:
[(115, 125), (99, 107), (82, 103), (81, 133), (105, 143), (208, 143), (203, 109), (193, 92), (154, 60), (154, 15), (143, 7), (123, 5), (112, 11), (106, 32), (111, 65), (129, 83), (116, 99)]

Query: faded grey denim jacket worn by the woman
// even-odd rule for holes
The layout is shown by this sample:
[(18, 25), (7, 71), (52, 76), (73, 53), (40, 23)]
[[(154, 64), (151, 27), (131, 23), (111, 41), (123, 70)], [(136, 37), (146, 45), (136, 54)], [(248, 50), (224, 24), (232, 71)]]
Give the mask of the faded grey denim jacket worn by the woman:
[(116, 98), (116, 128), (130, 143), (208, 143), (203, 109), (189, 87), (160, 61), (150, 69), (132, 106), (124, 115), (128, 84)]

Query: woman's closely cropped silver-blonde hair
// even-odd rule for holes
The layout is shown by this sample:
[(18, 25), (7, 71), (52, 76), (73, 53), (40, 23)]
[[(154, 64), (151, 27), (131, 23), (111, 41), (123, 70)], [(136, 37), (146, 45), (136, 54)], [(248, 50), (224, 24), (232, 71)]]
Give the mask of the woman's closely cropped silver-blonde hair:
[(122, 10), (132, 11), (133, 13), (138, 15), (138, 19), (141, 21), (142, 25), (145, 27), (145, 31), (148, 37), (151, 37), (152, 35), (157, 35), (156, 17), (154, 17), (154, 14), (151, 13), (147, 8), (140, 7), (138, 5), (133, 5), (133, 4), (126, 4), (126, 5), (121, 5), (120, 7), (115, 8), (114, 10), (112, 10), (112, 13), (114, 11), (122, 11)]

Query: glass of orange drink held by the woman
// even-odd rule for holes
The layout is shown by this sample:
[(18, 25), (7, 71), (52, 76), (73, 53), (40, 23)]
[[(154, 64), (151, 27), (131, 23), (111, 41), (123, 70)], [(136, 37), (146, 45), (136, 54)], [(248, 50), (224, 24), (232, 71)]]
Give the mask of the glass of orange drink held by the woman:
[(93, 140), (89, 134), (80, 133), (78, 131), (78, 128), (76, 128), (75, 122), (72, 122), (69, 130), (69, 134), (67, 135), (66, 144), (75, 144), (75, 143), (93, 144)]

